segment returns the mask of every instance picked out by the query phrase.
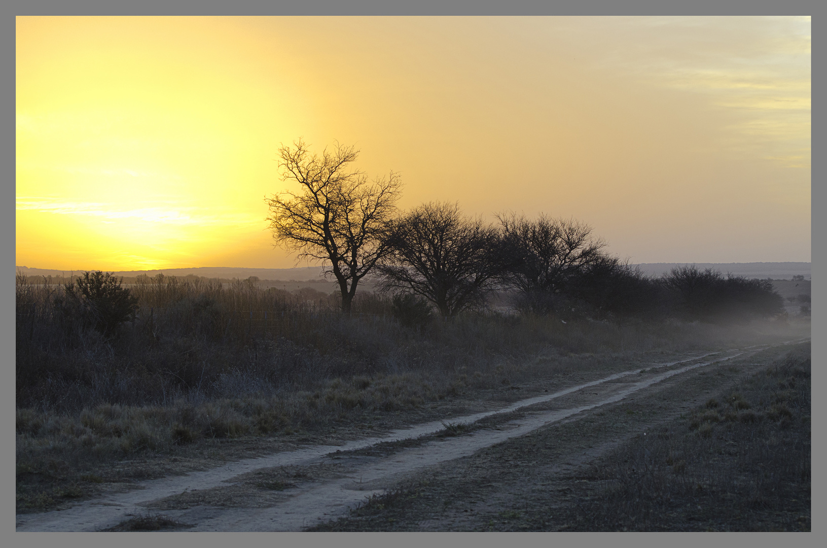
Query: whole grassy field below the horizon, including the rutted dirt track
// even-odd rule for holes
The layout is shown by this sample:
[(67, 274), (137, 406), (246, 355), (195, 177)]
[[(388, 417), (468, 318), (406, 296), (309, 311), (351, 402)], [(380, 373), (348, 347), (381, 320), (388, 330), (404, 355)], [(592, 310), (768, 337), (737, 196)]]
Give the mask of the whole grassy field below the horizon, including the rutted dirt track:
[(113, 340), (18, 291), (18, 531), (810, 530), (805, 317), (405, 327), (167, 280)]

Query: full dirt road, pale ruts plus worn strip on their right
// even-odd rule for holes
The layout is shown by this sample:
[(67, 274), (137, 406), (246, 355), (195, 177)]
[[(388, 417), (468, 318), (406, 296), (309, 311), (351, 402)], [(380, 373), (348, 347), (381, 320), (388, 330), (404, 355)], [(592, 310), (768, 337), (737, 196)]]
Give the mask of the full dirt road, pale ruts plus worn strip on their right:
[[(362, 525), (478, 530), (485, 524), (480, 516), (514, 507), (522, 491), (536, 488), (531, 478), (538, 473), (576, 477), (620, 441), (737, 384), (784, 350), (751, 347), (648, 363), (495, 411), (146, 481), (68, 509), (19, 515), (17, 531), (102, 531), (147, 515), (162, 515), (188, 531), (359, 528), (348, 516), (366, 497), (435, 481), (445, 487), (438, 503), (423, 499), (411, 505), (421, 507), (418, 512), (373, 516)], [(532, 458), (509, 465), (513, 450)], [(557, 489), (565, 495), (565, 486)]]

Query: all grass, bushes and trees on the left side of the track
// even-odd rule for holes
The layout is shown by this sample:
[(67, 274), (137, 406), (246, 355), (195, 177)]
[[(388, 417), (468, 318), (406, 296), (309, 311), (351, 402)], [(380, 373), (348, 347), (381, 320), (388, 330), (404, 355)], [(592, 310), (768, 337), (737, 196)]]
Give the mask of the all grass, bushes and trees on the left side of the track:
[[(267, 199), (270, 228), (326, 265), (333, 294), (255, 278), (17, 276), (18, 508), (84, 496), (97, 464), (136, 454), (325, 431), (796, 329), (767, 281), (695, 267), (649, 278), (573, 219), (487, 224), (438, 202), (403, 213), (398, 175), (369, 182), (352, 147), (280, 154), (302, 191)], [(381, 291), (356, 291), (366, 276)]]

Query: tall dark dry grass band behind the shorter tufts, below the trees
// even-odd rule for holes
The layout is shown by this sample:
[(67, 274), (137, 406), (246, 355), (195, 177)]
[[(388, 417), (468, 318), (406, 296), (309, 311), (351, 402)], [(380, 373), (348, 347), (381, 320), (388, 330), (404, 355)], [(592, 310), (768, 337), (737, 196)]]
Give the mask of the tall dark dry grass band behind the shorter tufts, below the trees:
[[(614, 324), (554, 315), (469, 314), (405, 327), (390, 297), (337, 296), (250, 281), (141, 276), (136, 320), (105, 338), (61, 320), (61, 286), (17, 276), (17, 406), (78, 412), (312, 390), (336, 377), (427, 372), (452, 378), (538, 353), (709, 347), (752, 331), (705, 324)], [(266, 313), (266, 320), (265, 320)]]

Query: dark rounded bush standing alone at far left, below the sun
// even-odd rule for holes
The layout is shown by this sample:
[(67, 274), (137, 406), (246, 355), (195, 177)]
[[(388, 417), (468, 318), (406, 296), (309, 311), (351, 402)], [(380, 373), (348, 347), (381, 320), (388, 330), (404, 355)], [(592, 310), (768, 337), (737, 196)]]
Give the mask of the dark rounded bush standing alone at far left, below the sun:
[(122, 279), (111, 272), (84, 272), (64, 286), (64, 296), (55, 305), (65, 319), (79, 322), (82, 329), (92, 327), (105, 336), (115, 334), (120, 324), (135, 318), (138, 299)]

